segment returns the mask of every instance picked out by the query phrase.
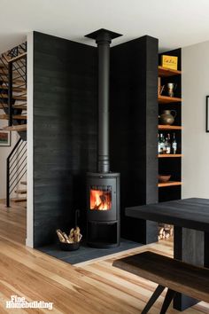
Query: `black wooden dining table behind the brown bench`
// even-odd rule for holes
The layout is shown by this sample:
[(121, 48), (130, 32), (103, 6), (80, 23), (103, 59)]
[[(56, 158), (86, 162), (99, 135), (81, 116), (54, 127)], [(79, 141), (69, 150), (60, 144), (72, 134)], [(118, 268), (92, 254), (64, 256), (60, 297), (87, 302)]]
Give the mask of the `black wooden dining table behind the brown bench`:
[[(174, 258), (209, 268), (209, 200), (190, 198), (126, 208), (126, 216), (174, 225)], [(177, 294), (174, 309), (198, 301)]]

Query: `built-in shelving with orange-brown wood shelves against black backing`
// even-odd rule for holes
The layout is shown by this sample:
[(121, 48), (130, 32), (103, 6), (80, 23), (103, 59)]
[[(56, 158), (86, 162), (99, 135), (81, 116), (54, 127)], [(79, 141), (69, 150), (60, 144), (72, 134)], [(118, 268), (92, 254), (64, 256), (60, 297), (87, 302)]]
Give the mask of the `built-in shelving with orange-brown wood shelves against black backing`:
[[(182, 71), (181, 71), (181, 49), (163, 53), (170, 56), (178, 57), (178, 70), (173, 70), (159, 66), (159, 91), (162, 86), (168, 82), (174, 82), (176, 89), (174, 97), (169, 97), (166, 88), (163, 89), (162, 95), (159, 94), (159, 115), (163, 110), (174, 110), (176, 117), (173, 125), (159, 124), (159, 133), (163, 133), (165, 137), (170, 134), (171, 138), (177, 141), (177, 152), (163, 153), (158, 155), (159, 174), (171, 175), (170, 181), (159, 183), (159, 201), (178, 200), (181, 199), (182, 193)], [(159, 62), (161, 56), (159, 55)]]

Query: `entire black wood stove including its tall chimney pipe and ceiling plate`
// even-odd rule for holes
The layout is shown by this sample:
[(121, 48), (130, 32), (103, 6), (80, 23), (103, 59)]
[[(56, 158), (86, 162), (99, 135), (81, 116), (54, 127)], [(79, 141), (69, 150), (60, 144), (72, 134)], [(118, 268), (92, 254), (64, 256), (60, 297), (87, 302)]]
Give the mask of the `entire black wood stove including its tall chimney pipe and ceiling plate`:
[(97, 173), (87, 174), (87, 241), (108, 248), (120, 245), (120, 174), (110, 171), (109, 161), (110, 43), (120, 34), (99, 29), (86, 36), (98, 50)]

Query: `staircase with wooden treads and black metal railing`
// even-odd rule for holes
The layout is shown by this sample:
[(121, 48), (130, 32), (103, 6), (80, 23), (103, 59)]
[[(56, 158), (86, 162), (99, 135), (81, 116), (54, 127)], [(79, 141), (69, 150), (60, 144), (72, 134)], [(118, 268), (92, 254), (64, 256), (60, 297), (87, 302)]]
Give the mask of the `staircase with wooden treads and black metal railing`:
[(13, 201), (26, 201), (25, 189), (17, 189), (27, 172), (27, 43), (22, 43), (0, 56), (0, 120), (7, 120), (3, 130), (17, 131), (19, 141), (7, 158), (7, 197), (10, 207), (13, 191), (17, 197)]

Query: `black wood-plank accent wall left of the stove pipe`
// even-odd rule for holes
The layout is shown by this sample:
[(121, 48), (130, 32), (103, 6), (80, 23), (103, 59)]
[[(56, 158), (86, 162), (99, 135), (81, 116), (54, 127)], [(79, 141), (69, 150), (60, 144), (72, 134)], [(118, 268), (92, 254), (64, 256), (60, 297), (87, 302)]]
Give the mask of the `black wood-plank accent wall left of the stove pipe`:
[(97, 50), (34, 33), (34, 245), (85, 221), (85, 175), (97, 153)]

